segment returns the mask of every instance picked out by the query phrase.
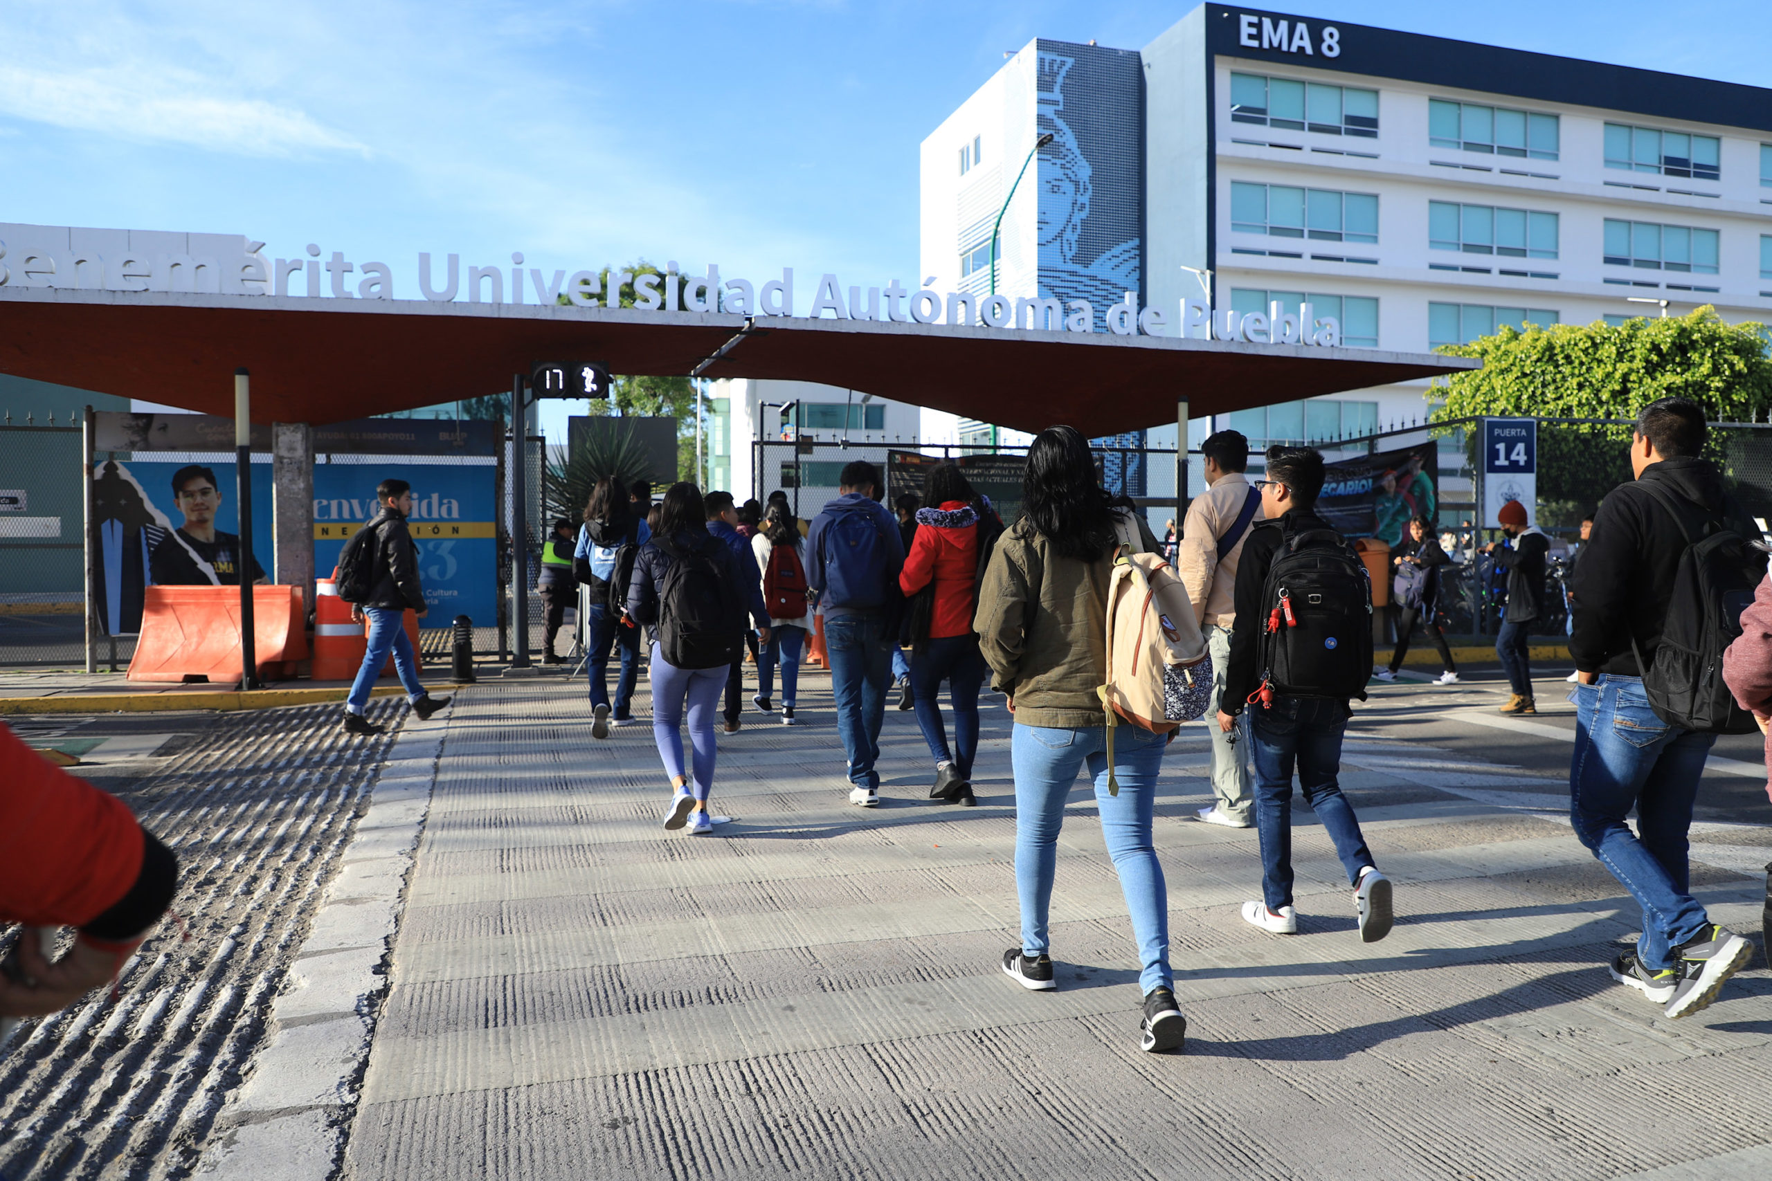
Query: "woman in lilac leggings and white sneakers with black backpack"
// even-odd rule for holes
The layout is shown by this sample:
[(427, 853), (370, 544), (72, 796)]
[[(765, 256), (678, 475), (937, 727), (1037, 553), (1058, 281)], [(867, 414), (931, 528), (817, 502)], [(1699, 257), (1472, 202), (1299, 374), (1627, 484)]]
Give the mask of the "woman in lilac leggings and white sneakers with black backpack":
[[(707, 531), (707, 503), (698, 487), (673, 483), (659, 510), (659, 531), (640, 549), (627, 590), (627, 614), (652, 629), (652, 737), (672, 781), (664, 809), (670, 830), (684, 825), (691, 836), (714, 830), (707, 813), (714, 788), (714, 714), (732, 662), (744, 650), (746, 611), (767, 643), (769, 613), (750, 552), (741, 561)], [(689, 768), (682, 763), (686, 710)]]

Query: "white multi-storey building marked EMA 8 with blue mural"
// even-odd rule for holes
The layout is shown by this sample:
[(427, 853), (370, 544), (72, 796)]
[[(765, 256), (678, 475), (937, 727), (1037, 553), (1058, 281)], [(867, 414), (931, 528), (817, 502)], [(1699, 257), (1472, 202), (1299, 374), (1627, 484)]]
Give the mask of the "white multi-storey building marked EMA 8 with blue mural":
[[(1756, 87), (1209, 4), (1141, 51), (1030, 42), (921, 165), (925, 274), (1097, 292), (1097, 317), (1136, 292), (1175, 322), (1210, 289), (1221, 313), (1310, 303), (1347, 345), (1425, 352), (1499, 324), (1660, 313), (1632, 297), (1772, 315), (1772, 90)], [(1423, 418), (1428, 393), (1239, 411), (1191, 436), (1366, 434)]]

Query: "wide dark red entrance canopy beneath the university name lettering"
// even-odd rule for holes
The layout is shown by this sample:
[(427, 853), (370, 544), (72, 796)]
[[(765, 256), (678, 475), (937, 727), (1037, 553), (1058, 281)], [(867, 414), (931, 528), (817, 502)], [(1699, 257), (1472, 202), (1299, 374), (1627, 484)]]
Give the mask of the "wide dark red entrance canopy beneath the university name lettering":
[(680, 375), (728, 343), (703, 375), (824, 382), (1019, 430), (1063, 421), (1090, 437), (1175, 421), (1182, 398), (1193, 416), (1223, 414), (1480, 365), (1173, 335), (0, 287), (0, 372), (232, 414), (245, 367), (255, 421), (323, 425), (482, 397), (539, 361)]

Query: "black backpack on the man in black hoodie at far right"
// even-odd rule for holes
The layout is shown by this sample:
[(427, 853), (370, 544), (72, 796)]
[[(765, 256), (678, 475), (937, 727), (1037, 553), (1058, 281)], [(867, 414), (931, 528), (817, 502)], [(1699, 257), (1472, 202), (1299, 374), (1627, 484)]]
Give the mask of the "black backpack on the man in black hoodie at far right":
[[(1738, 706), (1722, 683), (1722, 650), (1742, 634), (1742, 611), (1754, 600), (1754, 590), (1767, 574), (1767, 554), (1696, 501), (1682, 508), (1678, 501), (1685, 498), (1653, 480), (1637, 487), (1673, 513), (1685, 538), (1655, 660), (1644, 666), (1636, 637), (1630, 639), (1650, 708), (1682, 729), (1751, 735), (1758, 729), (1754, 715)], [(1705, 513), (1698, 540), (1692, 540), (1685, 522), (1692, 510)]]

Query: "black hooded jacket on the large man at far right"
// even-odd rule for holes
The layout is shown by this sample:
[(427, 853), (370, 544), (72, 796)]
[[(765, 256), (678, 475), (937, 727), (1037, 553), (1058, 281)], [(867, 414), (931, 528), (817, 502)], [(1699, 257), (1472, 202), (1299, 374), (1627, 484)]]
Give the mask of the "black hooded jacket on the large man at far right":
[(1690, 503), (1687, 528), (1694, 536), (1701, 535), (1706, 513), (1722, 517), (1742, 536), (1760, 536), (1754, 522), (1722, 494), (1722, 476), (1705, 459), (1664, 459), (1644, 467), (1636, 483), (1613, 489), (1593, 517), (1593, 536), (1581, 551), (1570, 586), (1575, 630), (1568, 650), (1582, 673), (1641, 676), (1632, 639), (1644, 660), (1655, 660), (1685, 535), (1673, 513), (1637, 487), (1650, 480)]

